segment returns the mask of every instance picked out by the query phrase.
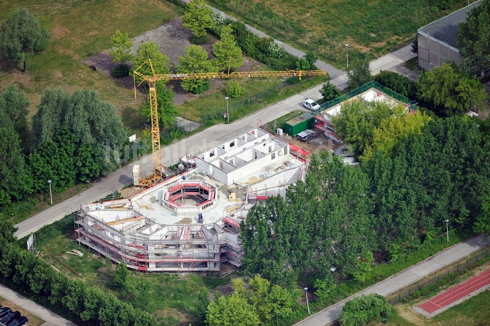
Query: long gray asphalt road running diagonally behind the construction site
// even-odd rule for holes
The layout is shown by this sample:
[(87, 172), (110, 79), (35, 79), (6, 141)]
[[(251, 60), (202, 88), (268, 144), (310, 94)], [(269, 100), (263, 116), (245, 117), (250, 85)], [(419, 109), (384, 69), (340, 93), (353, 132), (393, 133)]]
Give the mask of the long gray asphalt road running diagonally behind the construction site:
[[(408, 45), (400, 50), (396, 50), (371, 61), (370, 68), (373, 75), (378, 74), (381, 70), (393, 70), (404, 61), (415, 57), (416, 55), (412, 53), (410, 49), (411, 45)], [(345, 75), (333, 78), (330, 82), (343, 89), (345, 87)], [(266, 124), (294, 110), (301, 110), (303, 109), (302, 101), (304, 98), (320, 98), (319, 90), (321, 89), (321, 86), (321, 84), (317, 85), (286, 100), (271, 104), (270, 106), (231, 124), (213, 125), (189, 138), (165, 147), (162, 150), (163, 165), (171, 166), (177, 163), (179, 158), (186, 154), (195, 155), (257, 125)], [(22, 221), (16, 225), (19, 230), (15, 235), (18, 238), (25, 237), (45, 225), (49, 225), (62, 219), (65, 215), (75, 211), (77, 206), (82, 203), (97, 201), (107, 194), (114, 192), (116, 189), (122, 189), (124, 186), (130, 185), (132, 183), (132, 168), (134, 164), (128, 164), (110, 175), (100, 178), (98, 182), (94, 183), (92, 188)], [(150, 173), (153, 168), (151, 155), (142, 157), (138, 164), (141, 165), (143, 173)]]

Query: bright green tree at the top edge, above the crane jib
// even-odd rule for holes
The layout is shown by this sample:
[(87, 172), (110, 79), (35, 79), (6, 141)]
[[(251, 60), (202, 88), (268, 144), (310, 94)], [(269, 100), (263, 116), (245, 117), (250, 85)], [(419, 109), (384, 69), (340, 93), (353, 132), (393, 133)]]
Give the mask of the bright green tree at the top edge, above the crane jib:
[(214, 25), (211, 8), (204, 0), (191, 0), (185, 7), (182, 25), (189, 28), (196, 38), (207, 36), (206, 30)]

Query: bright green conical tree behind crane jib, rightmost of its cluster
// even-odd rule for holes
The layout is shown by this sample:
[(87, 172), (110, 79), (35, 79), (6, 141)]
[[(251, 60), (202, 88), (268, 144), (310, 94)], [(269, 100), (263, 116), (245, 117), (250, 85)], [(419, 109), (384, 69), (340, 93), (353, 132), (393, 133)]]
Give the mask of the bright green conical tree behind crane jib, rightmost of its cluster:
[[(213, 65), (208, 60), (208, 52), (203, 47), (191, 45), (185, 48), (185, 55), (179, 56), (177, 74), (209, 73)], [(200, 94), (209, 89), (209, 79), (184, 79), (180, 82), (183, 89)]]

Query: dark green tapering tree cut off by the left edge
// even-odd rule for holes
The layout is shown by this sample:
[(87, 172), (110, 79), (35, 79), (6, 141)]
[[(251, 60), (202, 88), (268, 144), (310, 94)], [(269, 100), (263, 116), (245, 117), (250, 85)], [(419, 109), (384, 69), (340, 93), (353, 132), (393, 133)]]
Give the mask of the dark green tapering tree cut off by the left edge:
[[(25, 164), (19, 136), (11, 125), (0, 126), (0, 207), (32, 193), (32, 174)], [(0, 214), (1, 215), (1, 214)]]

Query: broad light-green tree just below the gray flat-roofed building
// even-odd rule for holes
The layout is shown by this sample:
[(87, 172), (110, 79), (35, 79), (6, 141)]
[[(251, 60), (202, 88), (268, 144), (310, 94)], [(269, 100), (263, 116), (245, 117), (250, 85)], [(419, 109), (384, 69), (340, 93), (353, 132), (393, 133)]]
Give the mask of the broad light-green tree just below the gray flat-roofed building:
[(453, 64), (444, 63), (418, 76), (418, 97), (442, 108), (446, 114), (462, 113), (471, 107), (485, 109), (487, 95), (475, 77), (463, 75)]

